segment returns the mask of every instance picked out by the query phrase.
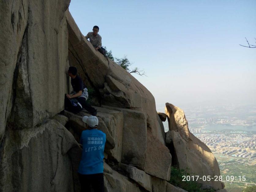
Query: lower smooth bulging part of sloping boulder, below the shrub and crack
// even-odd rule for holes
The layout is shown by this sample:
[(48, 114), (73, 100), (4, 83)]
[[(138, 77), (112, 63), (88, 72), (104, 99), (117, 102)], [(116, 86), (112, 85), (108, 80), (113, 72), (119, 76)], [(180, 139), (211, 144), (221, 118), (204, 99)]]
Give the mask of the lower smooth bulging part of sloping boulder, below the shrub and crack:
[(147, 127), (164, 144), (164, 129), (157, 120), (155, 99), (130, 73), (111, 59), (104, 88), (100, 89), (104, 105), (141, 111), (146, 115)]

